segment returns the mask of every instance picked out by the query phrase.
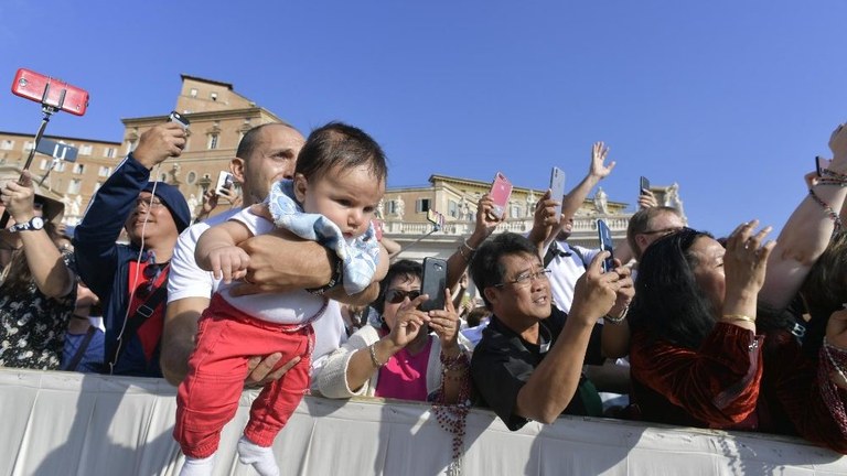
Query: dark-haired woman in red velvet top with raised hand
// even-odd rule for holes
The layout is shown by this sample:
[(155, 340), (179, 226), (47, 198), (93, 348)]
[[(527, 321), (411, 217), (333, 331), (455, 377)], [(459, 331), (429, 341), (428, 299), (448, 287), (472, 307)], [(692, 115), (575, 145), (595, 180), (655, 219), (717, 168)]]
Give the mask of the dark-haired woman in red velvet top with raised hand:
[(633, 400), (645, 420), (753, 430), (762, 376), (755, 303), (774, 244), (742, 224), (726, 250), (684, 228), (646, 249), (630, 311)]

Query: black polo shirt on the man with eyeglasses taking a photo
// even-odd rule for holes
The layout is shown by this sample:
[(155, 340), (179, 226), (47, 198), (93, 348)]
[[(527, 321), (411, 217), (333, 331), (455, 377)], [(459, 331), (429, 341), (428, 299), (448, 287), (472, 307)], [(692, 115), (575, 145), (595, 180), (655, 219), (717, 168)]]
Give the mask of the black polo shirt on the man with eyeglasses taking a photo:
[[(549, 346), (524, 340), (517, 333), (506, 327), (495, 315), (482, 332), (482, 339), (473, 349), (471, 378), (481, 399), (481, 404), (497, 413), (510, 430), (515, 431), (526, 424), (527, 419), (514, 413), (517, 393), (524, 387), (538, 364), (544, 360), (548, 349), (565, 328), (568, 316), (553, 307), (546, 320), (539, 321), (543, 338), (550, 337)], [(604, 360), (600, 353), (600, 336), (603, 326), (594, 325), (591, 339), (586, 350), (587, 365), (601, 365)], [(543, 348), (546, 347), (546, 348)], [(583, 375), (579, 387), (562, 414), (600, 416), (602, 402), (594, 385)]]

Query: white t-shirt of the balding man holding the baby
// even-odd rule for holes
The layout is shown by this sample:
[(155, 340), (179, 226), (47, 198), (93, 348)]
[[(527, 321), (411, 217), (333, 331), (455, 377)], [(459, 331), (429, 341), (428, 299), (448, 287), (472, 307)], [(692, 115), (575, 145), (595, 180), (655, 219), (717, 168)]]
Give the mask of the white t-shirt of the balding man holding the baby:
[[(176, 240), (176, 247), (171, 258), (171, 269), (168, 273), (168, 303), (185, 298), (206, 298), (217, 291), (221, 280), (211, 272), (202, 270), (194, 260), (194, 248), (200, 236), (214, 225), (233, 217), (240, 209), (232, 209), (206, 221), (190, 226)], [(330, 300), (323, 317), (312, 323), (314, 328), (314, 350), (312, 351), (312, 374), (323, 366), (325, 358), (347, 340), (344, 320), (336, 301)]]

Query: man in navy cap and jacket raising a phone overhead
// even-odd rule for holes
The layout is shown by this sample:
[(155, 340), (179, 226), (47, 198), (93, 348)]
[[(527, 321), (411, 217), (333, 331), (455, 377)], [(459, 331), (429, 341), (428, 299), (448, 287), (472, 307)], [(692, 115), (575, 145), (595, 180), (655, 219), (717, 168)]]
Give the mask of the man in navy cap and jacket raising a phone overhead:
[[(79, 275), (103, 304), (106, 372), (162, 376), (159, 351), (169, 263), (191, 213), (179, 188), (149, 178), (157, 164), (179, 156), (184, 147), (185, 130), (176, 123), (144, 131), (76, 227)], [(128, 245), (116, 242), (121, 228)]]

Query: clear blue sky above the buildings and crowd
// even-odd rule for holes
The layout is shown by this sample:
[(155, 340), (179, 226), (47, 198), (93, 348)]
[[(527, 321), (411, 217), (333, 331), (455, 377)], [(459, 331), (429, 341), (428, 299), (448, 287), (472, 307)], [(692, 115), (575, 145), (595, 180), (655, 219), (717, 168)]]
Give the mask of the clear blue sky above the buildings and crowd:
[[(265, 6), (264, 3), (267, 3)], [(844, 0), (106, 1), (0, 4), (0, 85), (19, 67), (90, 91), (47, 133), (119, 141), (163, 115), (180, 74), (236, 91), (303, 131), (343, 120), (389, 156), (390, 186), (431, 174), (575, 185), (591, 143), (601, 183), (634, 203), (639, 175), (679, 183), (693, 226), (781, 228), (803, 174), (847, 120)], [(37, 106), (0, 93), (0, 130)]]

